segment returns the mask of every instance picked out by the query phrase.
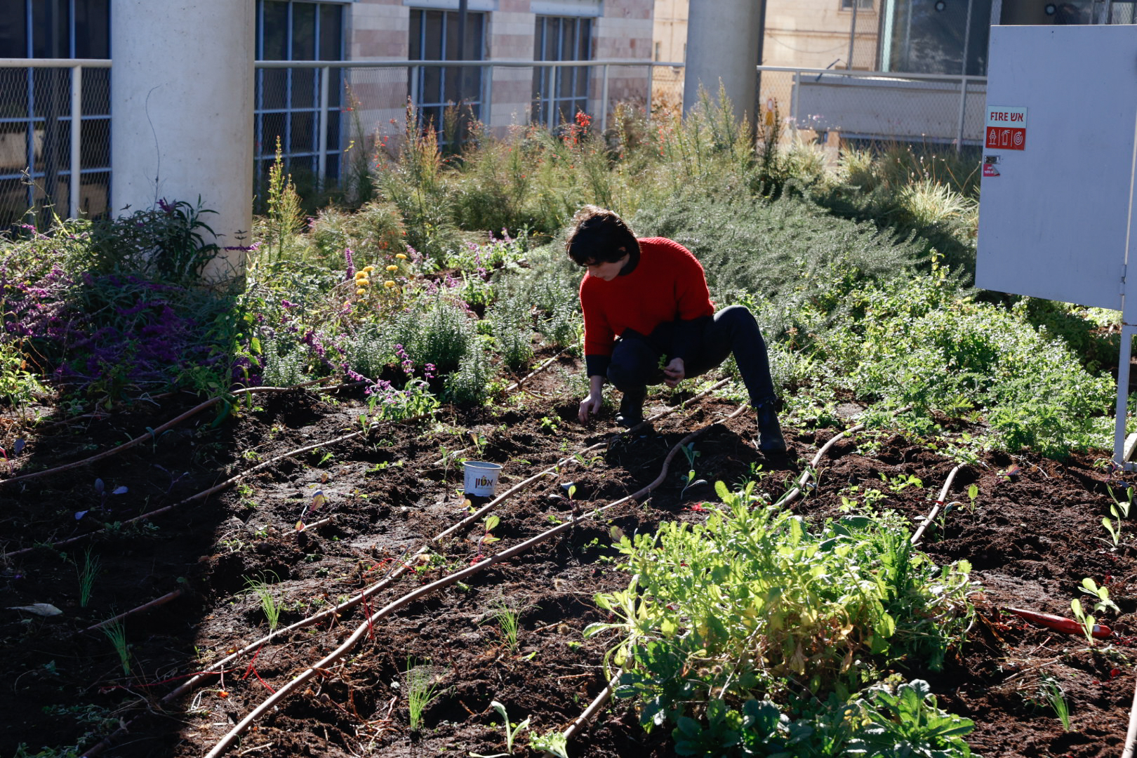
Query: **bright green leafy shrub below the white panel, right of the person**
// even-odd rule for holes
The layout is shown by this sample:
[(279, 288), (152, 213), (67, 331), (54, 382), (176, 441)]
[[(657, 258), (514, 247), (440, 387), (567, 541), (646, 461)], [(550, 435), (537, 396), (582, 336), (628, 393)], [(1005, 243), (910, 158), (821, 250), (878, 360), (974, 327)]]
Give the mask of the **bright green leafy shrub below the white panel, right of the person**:
[[(850, 292), (857, 319), (818, 347), (869, 400), (953, 416), (986, 411), (1010, 450), (1063, 457), (1099, 442), (1109, 377), (1093, 376), (1060, 340), (1001, 306), (977, 302), (938, 273)], [(918, 431), (927, 431), (919, 430)]]

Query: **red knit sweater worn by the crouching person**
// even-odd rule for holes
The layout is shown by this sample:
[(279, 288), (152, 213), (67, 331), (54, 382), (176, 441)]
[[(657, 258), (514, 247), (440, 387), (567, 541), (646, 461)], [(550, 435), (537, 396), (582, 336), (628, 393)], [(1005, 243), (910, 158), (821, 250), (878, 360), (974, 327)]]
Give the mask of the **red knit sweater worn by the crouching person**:
[(706, 275), (690, 250), (662, 236), (639, 244), (640, 259), (632, 273), (611, 282), (589, 274), (581, 280), (586, 357), (611, 356), (615, 338), (626, 328), (648, 335), (664, 322), (714, 315)]

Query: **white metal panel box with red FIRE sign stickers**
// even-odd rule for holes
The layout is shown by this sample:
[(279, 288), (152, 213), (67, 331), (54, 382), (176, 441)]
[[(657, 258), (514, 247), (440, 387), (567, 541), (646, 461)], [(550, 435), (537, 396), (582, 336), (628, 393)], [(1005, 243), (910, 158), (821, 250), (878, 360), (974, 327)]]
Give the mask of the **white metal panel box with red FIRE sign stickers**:
[(1122, 309), (1137, 26), (996, 26), (989, 61), (976, 285)]

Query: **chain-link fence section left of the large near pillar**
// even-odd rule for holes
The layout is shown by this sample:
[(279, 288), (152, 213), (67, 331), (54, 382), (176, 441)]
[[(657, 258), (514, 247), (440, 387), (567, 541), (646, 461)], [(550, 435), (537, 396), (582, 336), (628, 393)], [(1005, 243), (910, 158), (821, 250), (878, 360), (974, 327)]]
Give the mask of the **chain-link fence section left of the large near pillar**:
[(110, 202), (110, 61), (0, 60), (0, 228)]

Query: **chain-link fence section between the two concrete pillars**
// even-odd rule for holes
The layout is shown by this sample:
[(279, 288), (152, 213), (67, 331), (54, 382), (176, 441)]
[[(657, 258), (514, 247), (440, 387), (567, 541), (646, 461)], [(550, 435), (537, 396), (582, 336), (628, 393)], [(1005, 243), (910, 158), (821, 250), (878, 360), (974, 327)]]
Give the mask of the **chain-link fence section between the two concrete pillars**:
[(258, 61), (257, 85), (258, 188), (279, 144), (301, 194), (360, 181), (405, 134), (408, 105), (451, 149), (473, 122), (503, 136), (583, 113), (604, 131), (617, 105), (646, 109), (649, 92), (655, 108), (682, 103), (682, 68), (645, 61)]

